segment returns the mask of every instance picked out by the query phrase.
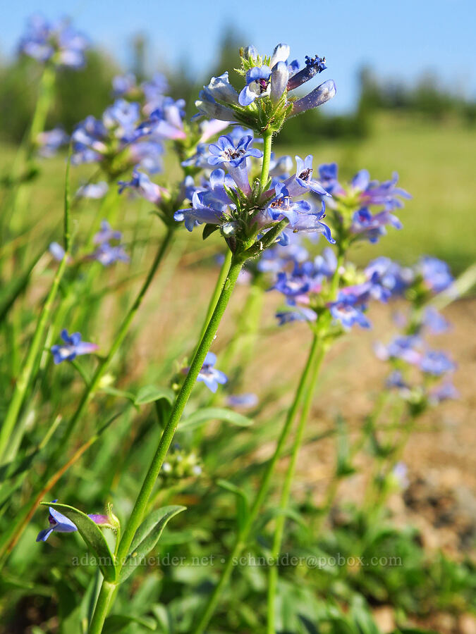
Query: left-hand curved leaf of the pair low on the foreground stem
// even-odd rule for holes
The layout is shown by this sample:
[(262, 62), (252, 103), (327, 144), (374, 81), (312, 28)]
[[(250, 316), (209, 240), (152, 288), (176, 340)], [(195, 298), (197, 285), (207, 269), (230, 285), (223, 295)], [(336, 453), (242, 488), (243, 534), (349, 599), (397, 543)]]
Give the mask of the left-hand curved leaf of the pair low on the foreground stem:
[(114, 556), (109, 549), (106, 538), (102, 530), (83, 511), (78, 511), (74, 506), (68, 504), (57, 504), (56, 502), (40, 502), (43, 506), (51, 506), (55, 511), (59, 511), (71, 520), (78, 533), (85, 540), (87, 547), (97, 557), (98, 565), (106, 581), (114, 581), (116, 578), (116, 567), (114, 566)]

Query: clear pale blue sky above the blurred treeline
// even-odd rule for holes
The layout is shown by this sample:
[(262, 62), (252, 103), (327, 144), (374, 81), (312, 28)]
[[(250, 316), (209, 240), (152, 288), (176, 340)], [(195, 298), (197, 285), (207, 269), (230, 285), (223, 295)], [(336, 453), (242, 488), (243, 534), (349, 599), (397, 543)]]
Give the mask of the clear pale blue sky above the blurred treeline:
[[(13, 54), (31, 13), (70, 15), (92, 42), (128, 66), (130, 39), (147, 35), (154, 67), (186, 59), (200, 74), (213, 59), (224, 27), (232, 24), (252, 43), (271, 52), (277, 42), (291, 55), (326, 56), (321, 77), (336, 81), (333, 110), (352, 108), (356, 71), (366, 64), (379, 75), (415, 79), (433, 70), (448, 89), (476, 95), (476, 3), (474, 0), (23, 0), (14, 9), (0, 0), (0, 53)], [(225, 69), (224, 69), (225, 70)], [(329, 104), (329, 106), (331, 106)]]

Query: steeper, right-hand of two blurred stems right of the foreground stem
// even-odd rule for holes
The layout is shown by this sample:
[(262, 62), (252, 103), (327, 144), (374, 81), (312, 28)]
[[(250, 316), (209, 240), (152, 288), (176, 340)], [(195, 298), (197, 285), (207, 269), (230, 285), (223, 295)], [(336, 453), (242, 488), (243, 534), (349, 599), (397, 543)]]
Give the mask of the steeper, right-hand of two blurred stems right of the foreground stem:
[[(317, 340), (317, 334), (314, 335), (315, 340)], [(273, 545), (271, 547), (271, 558), (274, 562), (269, 568), (269, 583), (268, 583), (268, 611), (267, 611), (267, 633), (274, 634), (276, 631), (276, 620), (275, 620), (275, 609), (274, 605), (276, 602), (276, 589), (278, 585), (278, 562), (279, 552), (281, 551), (281, 542), (283, 541), (283, 532), (284, 532), (284, 524), (286, 518), (284, 516), (284, 511), (288, 508), (289, 497), (291, 495), (291, 485), (293, 483), (294, 473), (296, 464), (298, 461), (298, 455), (300, 451), (300, 447), (303, 443), (304, 430), (307, 423), (307, 418), (309, 418), (309, 412), (312, 405), (312, 398), (314, 397), (317, 378), (319, 377), (319, 370), (322, 365), (322, 361), (324, 359), (324, 354), (326, 349), (324, 346), (319, 347), (319, 352), (317, 353), (317, 357), (315, 359), (314, 367), (312, 368), (312, 375), (310, 378), (310, 385), (307, 388), (307, 393), (305, 395), (303, 410), (301, 411), (298, 429), (296, 430), (293, 449), (291, 452), (291, 459), (288, 464), (288, 469), (286, 471), (286, 476), (284, 478), (283, 491), (281, 492), (281, 499), (279, 500), (279, 510), (281, 513), (276, 518), (276, 526), (274, 528), (274, 538)]]

